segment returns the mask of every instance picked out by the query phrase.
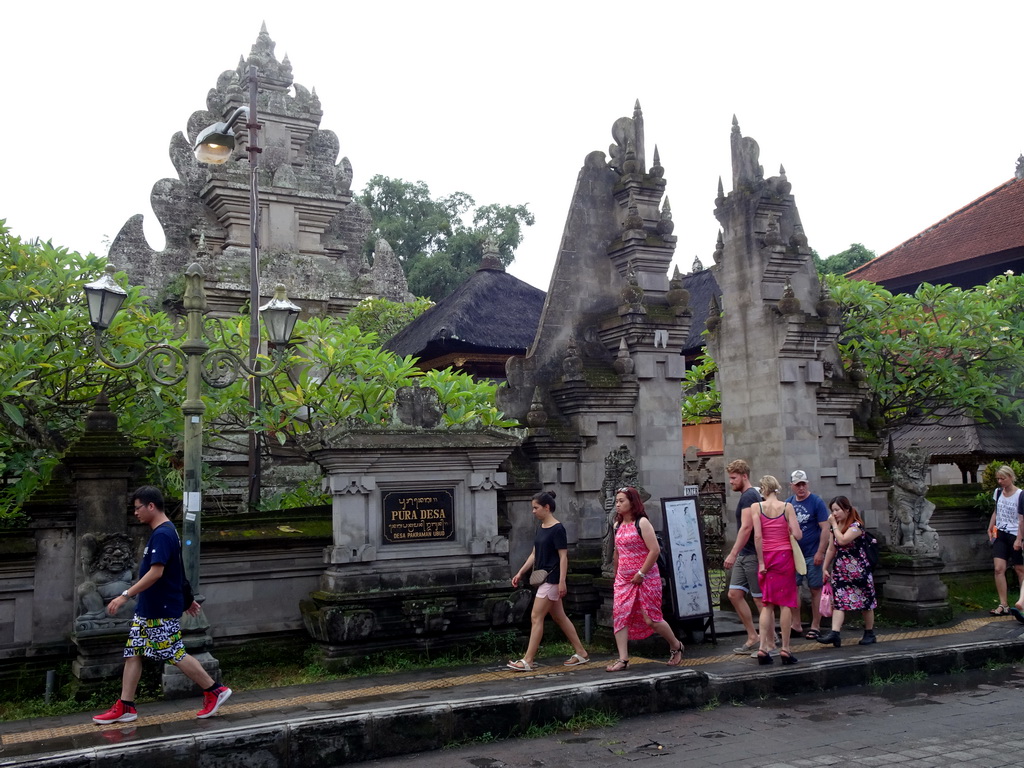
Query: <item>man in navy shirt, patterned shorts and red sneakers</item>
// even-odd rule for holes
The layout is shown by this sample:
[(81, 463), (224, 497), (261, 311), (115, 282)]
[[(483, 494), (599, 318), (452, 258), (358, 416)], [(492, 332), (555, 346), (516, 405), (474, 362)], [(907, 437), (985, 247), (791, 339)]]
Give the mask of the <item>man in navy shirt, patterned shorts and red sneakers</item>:
[(177, 666), (203, 689), (203, 709), (198, 718), (217, 713), (231, 695), (231, 689), (216, 682), (195, 656), (185, 652), (181, 642), (181, 614), (196, 615), (199, 603), (184, 604), (182, 587), (184, 567), (181, 563), (181, 543), (174, 523), (164, 512), (164, 497), (152, 485), (143, 485), (132, 494), (135, 517), (150, 526), (150, 541), (138, 567), (138, 581), (111, 600), (106, 612), (116, 615), (125, 601), (138, 596), (128, 643), (125, 645), (125, 668), (121, 678), (121, 697), (115, 705), (97, 715), (95, 723), (129, 723), (138, 718), (135, 710), (135, 689), (142, 677), (142, 656)]

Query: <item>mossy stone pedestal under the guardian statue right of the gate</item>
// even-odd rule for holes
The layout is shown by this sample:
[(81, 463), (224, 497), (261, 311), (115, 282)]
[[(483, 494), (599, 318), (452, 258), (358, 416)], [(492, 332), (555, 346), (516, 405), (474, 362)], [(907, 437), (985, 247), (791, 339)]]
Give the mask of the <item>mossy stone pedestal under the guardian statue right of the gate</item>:
[(889, 580), (882, 588), (882, 605), (887, 618), (933, 625), (949, 618), (949, 594), (939, 579), (945, 563), (930, 555), (885, 556), (883, 565)]

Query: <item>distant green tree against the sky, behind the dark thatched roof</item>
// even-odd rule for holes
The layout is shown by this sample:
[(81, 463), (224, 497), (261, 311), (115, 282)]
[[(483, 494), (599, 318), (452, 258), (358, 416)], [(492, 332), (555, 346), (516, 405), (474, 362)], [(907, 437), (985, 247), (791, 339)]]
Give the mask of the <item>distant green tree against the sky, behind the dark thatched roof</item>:
[(406, 270), (410, 291), (434, 301), (447, 296), (479, 267), (488, 239), (502, 263), (511, 264), (522, 243), (522, 227), (535, 222), (525, 205), (477, 206), (465, 193), (435, 200), (423, 181), (382, 175), (370, 179), (359, 202), (374, 221), (368, 253), (377, 238), (386, 240)]

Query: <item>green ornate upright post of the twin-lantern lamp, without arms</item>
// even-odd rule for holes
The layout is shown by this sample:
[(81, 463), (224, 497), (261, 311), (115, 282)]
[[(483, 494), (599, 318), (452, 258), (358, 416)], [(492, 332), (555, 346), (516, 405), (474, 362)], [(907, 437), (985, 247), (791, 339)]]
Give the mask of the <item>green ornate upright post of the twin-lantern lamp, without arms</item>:
[(183, 519), (181, 523), (181, 558), (185, 578), (193, 591), (200, 593), (199, 540), (203, 511), (203, 414), (206, 406), (200, 389), (202, 364), (200, 358), (210, 348), (203, 336), (203, 314), (206, 312), (205, 275), (199, 264), (185, 270), (185, 340), (181, 351), (185, 353), (185, 399), (181, 403), (184, 416), (184, 485), (182, 494)]

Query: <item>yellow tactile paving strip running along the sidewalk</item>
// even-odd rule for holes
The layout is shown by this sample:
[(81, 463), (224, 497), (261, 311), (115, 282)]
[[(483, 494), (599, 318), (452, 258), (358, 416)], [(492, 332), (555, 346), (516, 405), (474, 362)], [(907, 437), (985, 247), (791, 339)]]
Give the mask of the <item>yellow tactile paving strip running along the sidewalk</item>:
[[(984, 627), (992, 622), (1006, 621), (1002, 617), (992, 616), (983, 618), (967, 618), (952, 627), (943, 627), (940, 629), (928, 629), (928, 630), (912, 630), (907, 632), (887, 632), (884, 635), (879, 635), (879, 642), (893, 642), (898, 640), (913, 640), (924, 637), (940, 637), (942, 635), (956, 635), (966, 632), (974, 632), (975, 630)], [(823, 645), (816, 642), (806, 642), (801, 645), (795, 645), (796, 650), (801, 652), (808, 650), (824, 650), (830, 646)], [(700, 656), (697, 658), (687, 658), (684, 659), (684, 664), (680, 669), (700, 667), (709, 664), (719, 664), (722, 662), (729, 660), (740, 660), (743, 656), (736, 654), (725, 654), (718, 656)], [(630, 666), (638, 666), (642, 664), (658, 664), (650, 658), (643, 658), (641, 656), (634, 656), (630, 659)], [(593, 667), (600, 667), (601, 665), (585, 665), (583, 669), (593, 669)], [(572, 668), (580, 669), (580, 668)], [(259, 701), (250, 701), (247, 703), (238, 705), (224, 705), (220, 708), (220, 712), (225, 715), (230, 715), (232, 713), (260, 713), (267, 712), (270, 710), (288, 709), (292, 707), (305, 707), (311, 703), (324, 703), (329, 701), (345, 701), (353, 698), (362, 698), (366, 696), (386, 696), (388, 694), (394, 693), (409, 693), (419, 690), (435, 690), (438, 688), (455, 688), (460, 685), (469, 685), (472, 683), (485, 683), (494, 682), (498, 680), (508, 680), (510, 678), (516, 679), (530, 679), (536, 677), (559, 677), (568, 672), (564, 667), (554, 665), (548, 667), (539, 667), (532, 674), (525, 675), (521, 672), (515, 672), (513, 670), (495, 670), (481, 672), (476, 675), (460, 675), (458, 677), (445, 677), (438, 678), (436, 680), (424, 680), (416, 683), (401, 683), (395, 685), (372, 685), (366, 688), (353, 688), (349, 690), (338, 690), (328, 693), (310, 693), (302, 696), (289, 696), (287, 698), (272, 698), (264, 699)], [(191, 713), (175, 712), (168, 713), (166, 715), (158, 716), (144, 716), (139, 717), (133, 723), (113, 723), (111, 725), (95, 725), (90, 723), (83, 723), (81, 725), (67, 726), (63, 728), (44, 728), (33, 731), (25, 731), (23, 733), (6, 733), (0, 735), (0, 744), (16, 744), (24, 743), (26, 741), (45, 741), (51, 738), (60, 738), (67, 736), (78, 736), (84, 733), (95, 733), (97, 731), (110, 731), (110, 730), (121, 730), (125, 728), (136, 728), (138, 726), (144, 725), (162, 725), (165, 723), (178, 723), (187, 722), (195, 719), (195, 715)]]

